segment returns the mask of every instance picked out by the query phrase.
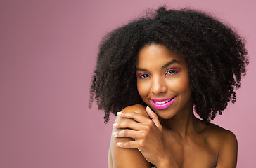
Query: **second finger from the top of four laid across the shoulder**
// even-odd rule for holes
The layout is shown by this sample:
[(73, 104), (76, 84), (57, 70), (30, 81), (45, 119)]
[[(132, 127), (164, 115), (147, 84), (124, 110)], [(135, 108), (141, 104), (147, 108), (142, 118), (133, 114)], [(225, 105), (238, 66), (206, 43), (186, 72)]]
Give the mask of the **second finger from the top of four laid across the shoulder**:
[(120, 123), (114, 123), (113, 127), (115, 128), (129, 128), (132, 130), (143, 130), (145, 127), (134, 120), (122, 120)]

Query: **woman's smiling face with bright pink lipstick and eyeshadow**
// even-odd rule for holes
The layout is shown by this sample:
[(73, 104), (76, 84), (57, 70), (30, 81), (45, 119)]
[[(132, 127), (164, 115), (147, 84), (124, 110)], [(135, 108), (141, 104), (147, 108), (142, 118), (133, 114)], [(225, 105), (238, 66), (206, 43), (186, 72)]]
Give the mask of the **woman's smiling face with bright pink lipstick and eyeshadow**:
[(160, 118), (191, 111), (191, 87), (183, 57), (164, 45), (146, 45), (139, 51), (136, 76), (141, 98)]

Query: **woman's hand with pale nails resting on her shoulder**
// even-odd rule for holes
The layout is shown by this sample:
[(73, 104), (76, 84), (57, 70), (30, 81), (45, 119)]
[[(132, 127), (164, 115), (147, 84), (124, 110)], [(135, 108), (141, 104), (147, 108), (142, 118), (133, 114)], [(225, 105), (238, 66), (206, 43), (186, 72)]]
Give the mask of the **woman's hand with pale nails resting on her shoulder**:
[(134, 121), (124, 120), (122, 123), (114, 124), (113, 127), (124, 130), (114, 132), (113, 136), (134, 139), (134, 141), (119, 142), (117, 146), (120, 148), (137, 148), (148, 162), (158, 166), (163, 159), (167, 158), (167, 151), (162, 141), (162, 125), (158, 116), (148, 106), (146, 112), (150, 118), (135, 112), (117, 113), (122, 118), (132, 118)]

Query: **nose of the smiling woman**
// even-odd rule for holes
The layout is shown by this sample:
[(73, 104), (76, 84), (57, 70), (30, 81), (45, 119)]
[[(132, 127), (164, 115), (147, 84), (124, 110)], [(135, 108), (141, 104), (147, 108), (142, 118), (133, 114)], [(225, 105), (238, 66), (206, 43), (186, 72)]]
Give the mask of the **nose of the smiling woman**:
[(167, 85), (165, 79), (161, 77), (152, 78), (151, 92), (153, 94), (162, 94), (167, 92)]

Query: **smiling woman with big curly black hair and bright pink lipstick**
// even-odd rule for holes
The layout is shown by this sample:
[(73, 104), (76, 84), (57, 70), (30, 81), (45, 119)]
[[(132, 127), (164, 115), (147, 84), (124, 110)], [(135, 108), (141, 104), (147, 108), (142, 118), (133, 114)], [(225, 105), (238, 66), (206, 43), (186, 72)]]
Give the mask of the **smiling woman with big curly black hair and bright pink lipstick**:
[(195, 10), (161, 7), (105, 36), (91, 101), (105, 123), (117, 115), (109, 167), (236, 167), (236, 136), (210, 120), (236, 102), (246, 56), (238, 34)]

